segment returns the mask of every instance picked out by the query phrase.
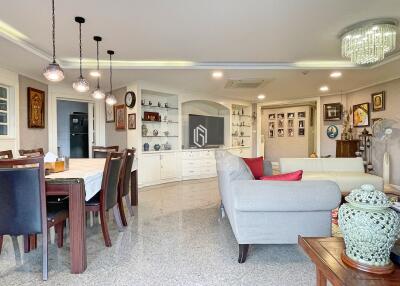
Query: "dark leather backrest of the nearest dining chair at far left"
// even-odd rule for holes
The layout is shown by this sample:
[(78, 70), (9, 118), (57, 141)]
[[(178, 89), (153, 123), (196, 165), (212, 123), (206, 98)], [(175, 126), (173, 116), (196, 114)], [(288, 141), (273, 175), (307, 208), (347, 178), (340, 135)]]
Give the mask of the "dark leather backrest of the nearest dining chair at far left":
[(0, 235), (47, 229), (43, 156), (0, 160)]

